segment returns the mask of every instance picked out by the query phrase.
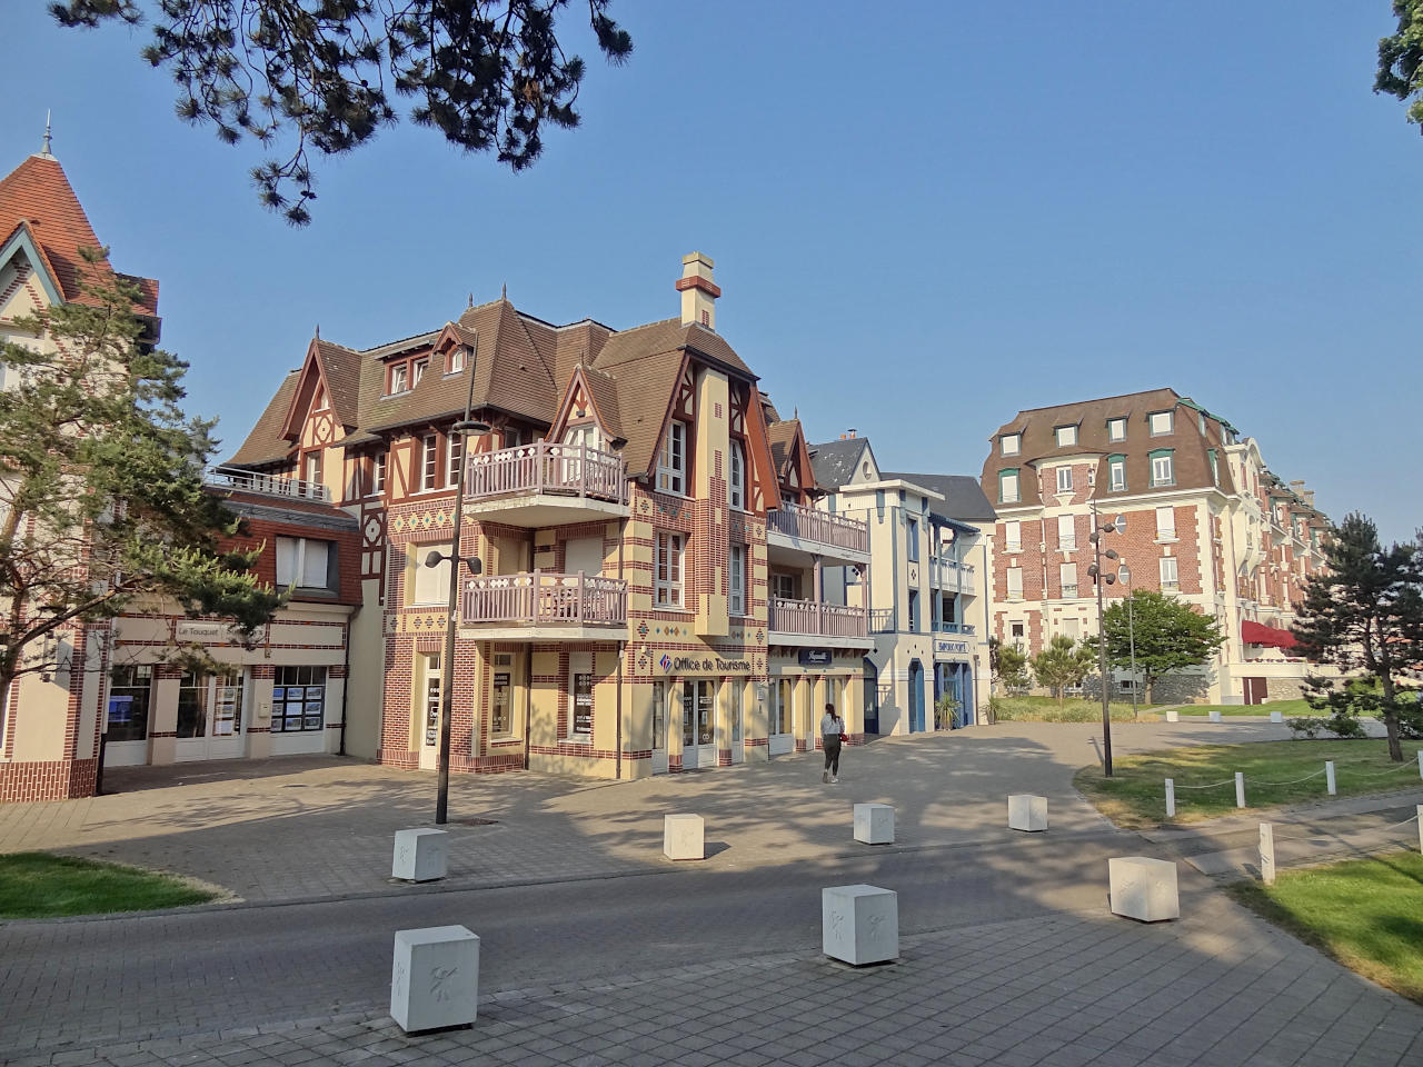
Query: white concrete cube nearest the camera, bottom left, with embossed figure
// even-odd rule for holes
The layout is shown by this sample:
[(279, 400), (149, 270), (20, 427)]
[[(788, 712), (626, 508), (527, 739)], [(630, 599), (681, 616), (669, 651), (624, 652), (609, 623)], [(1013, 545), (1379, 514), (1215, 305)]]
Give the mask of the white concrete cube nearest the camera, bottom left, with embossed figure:
[(400, 1029), (468, 1026), (478, 1014), (478, 936), (464, 926), (396, 930), (390, 1017)]

